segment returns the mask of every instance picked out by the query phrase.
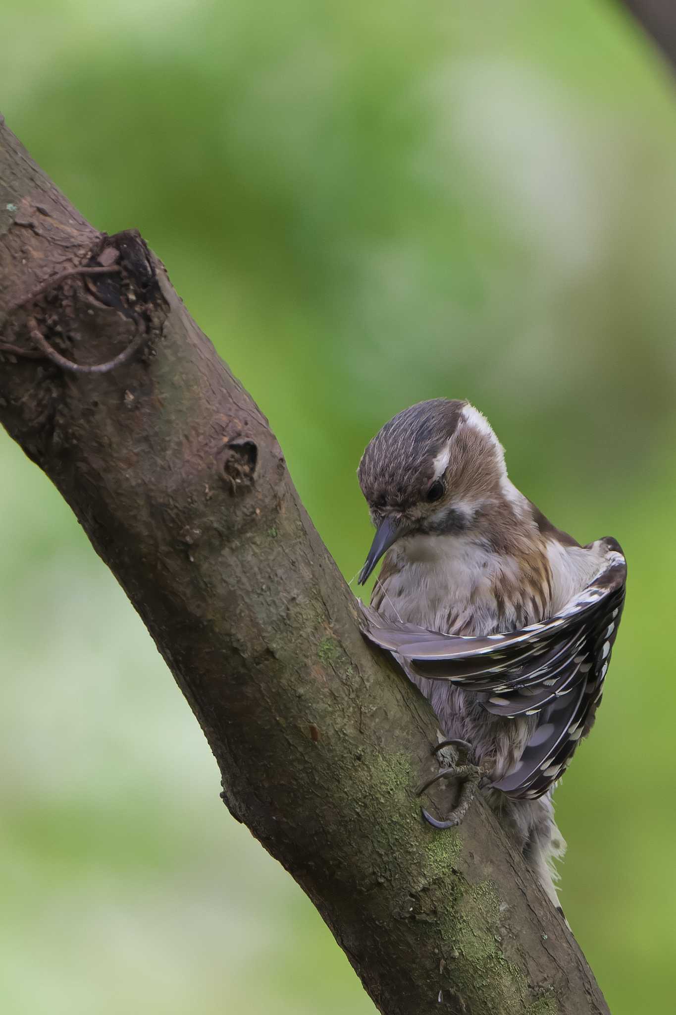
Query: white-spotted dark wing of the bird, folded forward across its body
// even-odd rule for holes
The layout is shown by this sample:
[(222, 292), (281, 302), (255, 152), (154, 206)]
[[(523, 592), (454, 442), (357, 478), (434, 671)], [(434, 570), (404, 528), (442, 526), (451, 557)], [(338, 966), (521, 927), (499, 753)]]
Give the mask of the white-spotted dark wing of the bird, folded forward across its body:
[(619, 544), (600, 543), (601, 569), (582, 592), (548, 620), (505, 634), (437, 634), (362, 606), (366, 637), (416, 676), (490, 692), (481, 703), (494, 716), (537, 716), (518, 765), (494, 784), (514, 799), (546, 793), (594, 722), (626, 582)]

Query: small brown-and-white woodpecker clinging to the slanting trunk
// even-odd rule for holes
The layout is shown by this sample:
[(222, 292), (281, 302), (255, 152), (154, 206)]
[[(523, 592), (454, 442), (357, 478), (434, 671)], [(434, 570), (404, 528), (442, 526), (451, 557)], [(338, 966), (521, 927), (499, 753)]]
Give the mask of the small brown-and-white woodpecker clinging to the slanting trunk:
[(450, 745), (452, 762), (421, 789), (448, 775), (469, 790), (448, 820), (423, 816), (458, 824), (480, 783), (562, 913), (566, 842), (551, 798), (601, 702), (624, 603), (622, 550), (611, 537), (582, 546), (549, 522), (465, 400), (399, 412), (368, 444), (358, 477), (376, 529), (361, 585), (382, 558), (370, 606), (360, 604), (363, 633), (430, 700), (435, 751)]

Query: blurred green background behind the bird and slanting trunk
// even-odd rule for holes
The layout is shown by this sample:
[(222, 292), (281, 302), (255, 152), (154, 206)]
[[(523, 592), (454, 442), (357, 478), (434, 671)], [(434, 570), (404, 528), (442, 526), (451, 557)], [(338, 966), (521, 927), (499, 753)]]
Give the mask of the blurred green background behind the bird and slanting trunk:
[[(515, 482), (629, 560), (561, 901), (614, 1015), (672, 1010), (676, 87), (604, 0), (5, 0), (0, 109), (137, 226), (351, 579), (381, 423), (467, 397)], [(219, 801), (189, 707), (0, 436), (0, 1010), (372, 1012)]]

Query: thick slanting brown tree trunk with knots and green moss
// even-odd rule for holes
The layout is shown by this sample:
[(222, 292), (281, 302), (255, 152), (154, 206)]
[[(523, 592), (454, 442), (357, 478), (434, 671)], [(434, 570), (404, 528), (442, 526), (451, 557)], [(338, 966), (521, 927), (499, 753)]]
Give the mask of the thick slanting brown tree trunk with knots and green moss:
[[(111, 270), (45, 286), (86, 266)], [(48, 341), (80, 363), (136, 350), (100, 374), (1, 353), (0, 419), (146, 623), (229, 810), (307, 892), (379, 1010), (607, 1012), (482, 802), (457, 831), (421, 820), (434, 717), (363, 642), (266, 418), (162, 265), (138, 233), (89, 225), (4, 126), (0, 330), (5, 347)]]

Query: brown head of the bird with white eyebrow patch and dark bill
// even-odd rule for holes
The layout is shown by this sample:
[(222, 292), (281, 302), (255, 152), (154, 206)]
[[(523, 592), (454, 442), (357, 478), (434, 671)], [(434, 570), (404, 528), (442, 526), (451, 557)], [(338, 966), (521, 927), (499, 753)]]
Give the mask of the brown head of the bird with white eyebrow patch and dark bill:
[(376, 527), (360, 585), (396, 540), (469, 531), (487, 504), (516, 494), (489, 421), (445, 398), (385, 423), (362, 456), (359, 484)]

